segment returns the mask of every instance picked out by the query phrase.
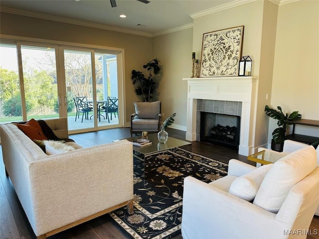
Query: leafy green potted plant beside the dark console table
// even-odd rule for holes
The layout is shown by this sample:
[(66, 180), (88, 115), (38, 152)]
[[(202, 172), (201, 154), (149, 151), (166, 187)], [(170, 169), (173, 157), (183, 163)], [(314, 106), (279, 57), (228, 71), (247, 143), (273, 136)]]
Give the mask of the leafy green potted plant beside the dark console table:
[(277, 110), (271, 109), (269, 108), (269, 106), (265, 107), (265, 112), (266, 115), (273, 118), (273, 119), (278, 119), (277, 124), (278, 124), (278, 128), (276, 128), (272, 135), (273, 135), (273, 139), (272, 139), (272, 150), (281, 152), (283, 151), (283, 147), (284, 147), (284, 141), (285, 141), (285, 136), (286, 136), (286, 130), (287, 130), (287, 126), (288, 126), (288, 122), (287, 120), (292, 120), (292, 119), (301, 119), (301, 114), (298, 114), (298, 111), (294, 111), (293, 113), (291, 113), (290, 115), (288, 115), (288, 113), (284, 114), (281, 107), (278, 106)]

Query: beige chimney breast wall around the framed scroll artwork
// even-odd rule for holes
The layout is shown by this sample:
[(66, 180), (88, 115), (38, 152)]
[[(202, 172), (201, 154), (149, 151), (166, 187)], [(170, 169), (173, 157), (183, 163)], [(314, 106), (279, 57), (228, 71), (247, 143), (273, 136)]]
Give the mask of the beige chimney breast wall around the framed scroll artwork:
[[(197, 59), (200, 59), (203, 33), (244, 25), (242, 55), (252, 58), (252, 73), (253, 76), (260, 77), (261, 85), (258, 90), (257, 116), (251, 119), (251, 122), (256, 122), (253, 140), (255, 147), (267, 142), (265, 101), (261, 99), (264, 99), (266, 91), (271, 91), (272, 69), (267, 70), (268, 67), (261, 66), (261, 62), (266, 62), (267, 65), (273, 62), (276, 34), (276, 23), (273, 22), (276, 22), (277, 18), (276, 7), (277, 5), (268, 1), (254, 1), (194, 19), (193, 51)], [(265, 20), (270, 22), (265, 23)]]

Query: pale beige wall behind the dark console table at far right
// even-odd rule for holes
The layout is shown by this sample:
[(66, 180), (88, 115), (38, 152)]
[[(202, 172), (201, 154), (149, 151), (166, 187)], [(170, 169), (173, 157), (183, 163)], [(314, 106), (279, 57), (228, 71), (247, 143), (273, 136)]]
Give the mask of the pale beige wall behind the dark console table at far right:
[[(281, 106), (284, 113), (299, 111), (304, 119), (319, 120), (318, 0), (279, 7), (271, 106)], [(276, 120), (270, 119), (269, 138), (275, 127)], [(319, 136), (317, 128), (298, 128)]]

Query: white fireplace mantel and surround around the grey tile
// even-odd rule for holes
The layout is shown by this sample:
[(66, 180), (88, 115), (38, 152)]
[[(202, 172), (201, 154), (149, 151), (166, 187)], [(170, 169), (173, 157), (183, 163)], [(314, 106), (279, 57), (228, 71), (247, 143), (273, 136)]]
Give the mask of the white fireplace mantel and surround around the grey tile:
[(196, 140), (197, 99), (242, 102), (238, 153), (253, 153), (258, 77), (183, 78), (187, 80), (186, 140)]

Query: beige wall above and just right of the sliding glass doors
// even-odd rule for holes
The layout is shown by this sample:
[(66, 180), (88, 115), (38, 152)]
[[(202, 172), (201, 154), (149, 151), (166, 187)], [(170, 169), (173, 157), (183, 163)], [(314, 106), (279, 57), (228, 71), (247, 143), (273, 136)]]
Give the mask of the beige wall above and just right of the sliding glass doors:
[(152, 38), (1, 12), (1, 34), (49, 39), (97, 46), (123, 48), (125, 51), (126, 122), (134, 112), (136, 96), (131, 72), (143, 71), (152, 60)]

